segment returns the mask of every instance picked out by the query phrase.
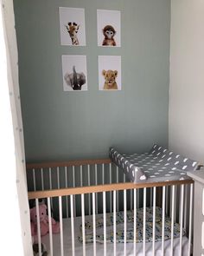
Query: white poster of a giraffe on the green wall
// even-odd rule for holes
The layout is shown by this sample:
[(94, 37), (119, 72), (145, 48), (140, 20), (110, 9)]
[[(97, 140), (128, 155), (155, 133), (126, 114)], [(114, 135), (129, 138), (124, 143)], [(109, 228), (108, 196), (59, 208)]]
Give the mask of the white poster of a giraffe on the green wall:
[(85, 10), (60, 7), (61, 45), (85, 46)]

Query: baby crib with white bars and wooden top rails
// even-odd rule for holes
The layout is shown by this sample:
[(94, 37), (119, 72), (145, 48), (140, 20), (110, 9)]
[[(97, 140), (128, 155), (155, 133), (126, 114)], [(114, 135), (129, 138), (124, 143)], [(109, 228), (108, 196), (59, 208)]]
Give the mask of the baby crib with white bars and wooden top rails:
[[(37, 213), (39, 252), (41, 242), (51, 256), (63, 255), (191, 255), (194, 181), (166, 181), (134, 184), (109, 159), (27, 164), (29, 200), (48, 202), (49, 230), (51, 215), (60, 220), (61, 233), (41, 237)], [(137, 242), (137, 213), (143, 207), (143, 241)], [(161, 241), (156, 241), (156, 207), (162, 208)], [(152, 208), (152, 238), (146, 241), (146, 214)], [(123, 211), (122, 243), (117, 241), (117, 214)], [(132, 213), (132, 222), (127, 214)], [(109, 215), (108, 215), (109, 214)], [(110, 216), (111, 217), (108, 217)], [(103, 218), (98, 241), (97, 220)], [(171, 235), (165, 240), (165, 218), (170, 218)], [(112, 226), (107, 226), (112, 218)], [(92, 221), (92, 243), (86, 243), (86, 221)], [(175, 222), (180, 234), (174, 238)], [(132, 227), (130, 227), (130, 225)], [(80, 230), (81, 226), (81, 230)], [(121, 228), (121, 225), (120, 225)], [(183, 236), (182, 230), (186, 233)], [(127, 240), (132, 229), (134, 237)], [(107, 240), (112, 230), (112, 242)], [(82, 243), (78, 236), (82, 237)], [(39, 253), (41, 255), (41, 253)]]

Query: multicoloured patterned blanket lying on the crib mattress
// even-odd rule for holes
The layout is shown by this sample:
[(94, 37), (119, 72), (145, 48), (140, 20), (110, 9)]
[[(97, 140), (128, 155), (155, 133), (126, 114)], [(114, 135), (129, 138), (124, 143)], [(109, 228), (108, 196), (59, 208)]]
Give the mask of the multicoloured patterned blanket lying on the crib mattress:
[[(162, 218), (162, 208), (156, 207), (156, 237), (155, 241), (162, 240), (162, 228), (163, 228), (163, 218)], [(104, 221), (103, 215), (96, 218), (96, 241), (99, 243), (104, 242)], [(171, 219), (165, 216), (164, 222), (164, 240), (169, 240), (171, 238)], [(117, 234), (116, 242), (124, 243), (124, 212), (118, 212), (116, 214), (116, 224), (117, 224)], [(134, 241), (134, 212), (127, 211), (127, 231), (126, 240), (127, 243), (132, 243)], [(146, 242), (152, 242), (152, 232), (153, 232), (153, 207), (146, 207)], [(80, 231), (82, 226), (80, 226)], [(136, 242), (143, 242), (143, 208), (137, 209), (137, 229), (136, 229)], [(92, 221), (85, 222), (85, 233), (86, 233), (86, 243), (93, 242), (93, 226)], [(182, 235), (185, 235), (185, 229), (182, 229)], [(180, 225), (174, 223), (174, 238), (180, 236)], [(82, 234), (79, 236), (80, 242), (83, 242)], [(106, 242), (113, 243), (113, 214), (106, 213)]]

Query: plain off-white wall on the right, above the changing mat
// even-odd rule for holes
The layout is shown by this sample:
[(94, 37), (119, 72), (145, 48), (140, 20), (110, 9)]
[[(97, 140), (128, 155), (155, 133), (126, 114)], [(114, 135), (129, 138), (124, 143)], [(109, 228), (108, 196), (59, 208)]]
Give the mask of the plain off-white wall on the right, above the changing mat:
[(171, 1), (169, 148), (204, 162), (204, 0)]

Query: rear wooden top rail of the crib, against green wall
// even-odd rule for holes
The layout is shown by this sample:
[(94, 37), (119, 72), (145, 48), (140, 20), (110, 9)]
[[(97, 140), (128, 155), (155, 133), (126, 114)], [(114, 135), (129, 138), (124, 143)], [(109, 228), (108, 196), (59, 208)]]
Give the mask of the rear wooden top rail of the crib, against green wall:
[(27, 163), (26, 169), (38, 169), (48, 167), (79, 167), (84, 165), (94, 164), (108, 164), (111, 163), (111, 159), (93, 159), (93, 160), (75, 160), (75, 161), (53, 161), (53, 162), (41, 162), (41, 163)]

